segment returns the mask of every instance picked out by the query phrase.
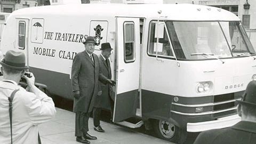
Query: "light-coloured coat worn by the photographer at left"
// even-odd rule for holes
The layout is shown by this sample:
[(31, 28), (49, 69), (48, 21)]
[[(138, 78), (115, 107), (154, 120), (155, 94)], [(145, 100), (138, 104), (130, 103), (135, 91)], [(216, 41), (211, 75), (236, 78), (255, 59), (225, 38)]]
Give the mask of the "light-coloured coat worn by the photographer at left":
[(38, 143), (37, 125), (56, 114), (52, 98), (39, 89), (36, 94), (27, 92), (12, 81), (0, 81), (0, 143), (11, 143), (8, 97), (15, 89), (19, 91), (12, 102), (13, 143)]

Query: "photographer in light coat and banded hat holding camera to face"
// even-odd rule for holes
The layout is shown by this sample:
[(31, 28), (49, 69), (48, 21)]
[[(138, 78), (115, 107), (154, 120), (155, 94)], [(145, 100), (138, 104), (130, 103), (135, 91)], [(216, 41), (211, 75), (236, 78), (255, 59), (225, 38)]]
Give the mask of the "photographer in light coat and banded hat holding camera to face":
[[(53, 100), (34, 85), (32, 73), (30, 78), (25, 75), (28, 67), (25, 66), (24, 53), (7, 51), (0, 63), (3, 73), (3, 80), (0, 81), (0, 143), (11, 143), (11, 140), (17, 144), (40, 143), (37, 125), (55, 116)], [(26, 90), (18, 85), (21, 77), (26, 79)], [(11, 128), (9, 97), (14, 90), (18, 91), (12, 101)]]

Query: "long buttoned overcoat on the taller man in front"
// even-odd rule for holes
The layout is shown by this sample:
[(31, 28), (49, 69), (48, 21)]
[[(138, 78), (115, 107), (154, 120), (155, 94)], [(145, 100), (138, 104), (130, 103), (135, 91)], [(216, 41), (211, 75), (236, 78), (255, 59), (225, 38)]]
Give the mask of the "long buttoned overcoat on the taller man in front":
[(98, 94), (98, 81), (106, 82), (106, 77), (101, 74), (99, 59), (92, 53), (94, 62), (86, 51), (75, 55), (71, 70), (73, 91), (80, 91), (80, 98), (74, 98), (73, 111), (90, 113), (94, 106), (94, 99)]

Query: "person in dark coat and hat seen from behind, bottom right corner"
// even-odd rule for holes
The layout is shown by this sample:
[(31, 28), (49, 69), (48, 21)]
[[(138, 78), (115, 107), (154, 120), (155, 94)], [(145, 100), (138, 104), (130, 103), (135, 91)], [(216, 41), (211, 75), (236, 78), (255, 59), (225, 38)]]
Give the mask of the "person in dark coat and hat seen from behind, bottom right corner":
[(241, 122), (223, 129), (201, 132), (194, 144), (253, 144), (256, 142), (256, 81), (251, 81), (238, 100)]

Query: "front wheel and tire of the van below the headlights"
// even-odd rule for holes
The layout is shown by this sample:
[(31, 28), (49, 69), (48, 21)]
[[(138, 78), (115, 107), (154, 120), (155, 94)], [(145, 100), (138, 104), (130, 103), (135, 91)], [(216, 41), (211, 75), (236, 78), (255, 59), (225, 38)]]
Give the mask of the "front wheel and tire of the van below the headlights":
[(154, 121), (154, 130), (158, 138), (182, 144), (187, 138), (187, 131), (164, 120)]

